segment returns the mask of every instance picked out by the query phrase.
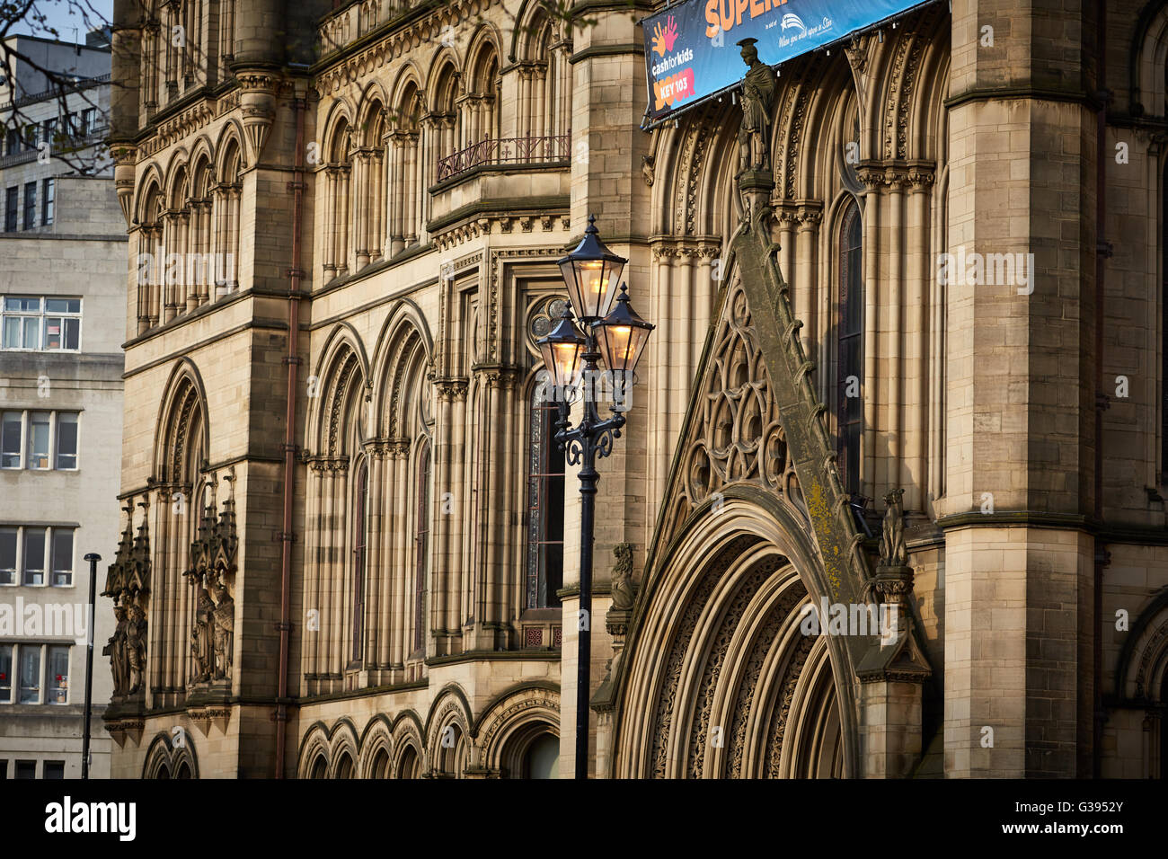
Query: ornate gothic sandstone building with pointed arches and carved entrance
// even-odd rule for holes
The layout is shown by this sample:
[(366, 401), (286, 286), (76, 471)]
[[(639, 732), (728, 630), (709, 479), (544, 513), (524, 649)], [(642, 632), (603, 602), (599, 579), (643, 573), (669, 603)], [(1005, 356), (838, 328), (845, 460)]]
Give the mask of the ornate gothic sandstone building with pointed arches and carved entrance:
[(730, 95), (641, 131), (648, 4), (573, 8), (117, 0), (113, 774), (571, 773), (595, 214), (658, 326), (597, 777), (1161, 775), (1166, 4), (929, 4), (745, 171)]

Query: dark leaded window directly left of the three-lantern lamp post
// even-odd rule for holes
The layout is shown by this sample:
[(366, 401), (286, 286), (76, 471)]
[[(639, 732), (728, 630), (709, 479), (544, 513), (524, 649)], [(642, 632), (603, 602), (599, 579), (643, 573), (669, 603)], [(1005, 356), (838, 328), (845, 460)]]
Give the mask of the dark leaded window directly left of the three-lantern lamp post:
[(564, 579), (564, 451), (556, 443), (558, 404), (537, 385), (531, 397), (527, 482), (527, 598), (529, 609), (559, 605)]

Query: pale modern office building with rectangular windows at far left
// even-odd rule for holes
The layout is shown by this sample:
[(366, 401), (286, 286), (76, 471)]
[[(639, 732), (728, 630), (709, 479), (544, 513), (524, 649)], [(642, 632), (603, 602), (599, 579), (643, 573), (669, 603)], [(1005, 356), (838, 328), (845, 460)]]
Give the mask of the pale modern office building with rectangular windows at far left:
[[(78, 777), (89, 553), (116, 549), (125, 222), (100, 140), (110, 49), (14, 36), (0, 84), (0, 778)], [(100, 590), (100, 588), (98, 588)], [(110, 672), (93, 630), (93, 778), (109, 775)]]

